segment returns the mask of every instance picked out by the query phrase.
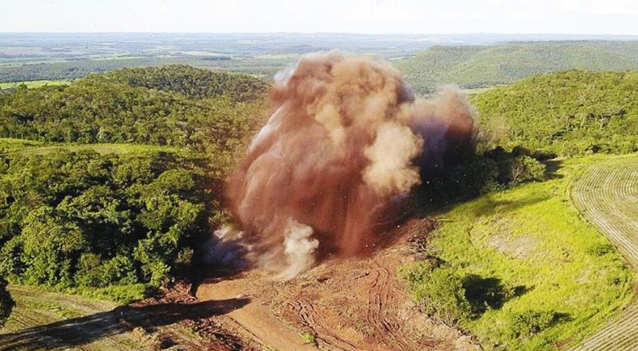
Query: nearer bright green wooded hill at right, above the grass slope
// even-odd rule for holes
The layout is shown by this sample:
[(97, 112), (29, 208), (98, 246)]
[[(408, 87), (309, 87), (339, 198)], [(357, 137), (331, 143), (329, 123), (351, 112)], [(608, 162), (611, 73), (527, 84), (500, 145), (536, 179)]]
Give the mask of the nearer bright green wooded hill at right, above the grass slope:
[(638, 71), (562, 71), (472, 96), (489, 144), (558, 155), (638, 151)]

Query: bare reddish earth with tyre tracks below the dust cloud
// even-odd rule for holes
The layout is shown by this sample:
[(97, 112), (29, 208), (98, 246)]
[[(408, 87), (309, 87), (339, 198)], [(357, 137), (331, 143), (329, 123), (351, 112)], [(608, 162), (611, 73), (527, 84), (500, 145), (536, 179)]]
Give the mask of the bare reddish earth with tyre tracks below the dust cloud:
[(388, 232), (396, 241), (370, 257), (329, 259), (288, 282), (249, 271), (202, 284), (197, 296), (248, 298), (220, 319), (255, 348), (315, 349), (304, 333), (327, 350), (476, 350), (469, 336), (420, 313), (397, 279), (397, 268), (414, 256), (406, 233), (420, 225), (413, 220)]

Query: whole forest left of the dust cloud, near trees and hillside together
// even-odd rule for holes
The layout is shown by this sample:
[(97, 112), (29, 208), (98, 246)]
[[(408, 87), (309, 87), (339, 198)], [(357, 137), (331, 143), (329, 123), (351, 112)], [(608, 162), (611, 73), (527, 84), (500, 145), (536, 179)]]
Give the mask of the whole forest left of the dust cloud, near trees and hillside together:
[[(1, 93), (0, 137), (16, 139), (0, 140), (0, 275), (121, 301), (114, 287), (171, 279), (224, 216), (218, 188), (266, 90), (172, 66)], [(113, 142), (173, 147), (80, 145)]]

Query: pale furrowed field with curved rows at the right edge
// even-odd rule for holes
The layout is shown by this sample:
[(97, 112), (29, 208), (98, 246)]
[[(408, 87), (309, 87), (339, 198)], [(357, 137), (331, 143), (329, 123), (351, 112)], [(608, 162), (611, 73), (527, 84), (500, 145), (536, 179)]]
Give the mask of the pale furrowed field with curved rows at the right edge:
[[(572, 198), (638, 272), (638, 155), (590, 167), (574, 182)], [(638, 302), (574, 350), (638, 350)]]

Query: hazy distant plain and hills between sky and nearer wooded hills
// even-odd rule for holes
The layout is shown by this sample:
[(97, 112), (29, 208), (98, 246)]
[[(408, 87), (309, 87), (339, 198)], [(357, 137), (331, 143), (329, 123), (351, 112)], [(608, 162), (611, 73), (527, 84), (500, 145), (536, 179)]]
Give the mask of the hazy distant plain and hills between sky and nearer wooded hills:
[(162, 65), (272, 80), (301, 55), (327, 50), (390, 60), (420, 93), (441, 84), (487, 87), (564, 69), (638, 67), (638, 37), (621, 35), (0, 33), (0, 83), (72, 80), (119, 67)]

